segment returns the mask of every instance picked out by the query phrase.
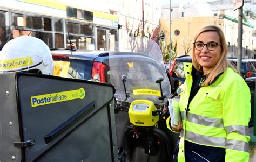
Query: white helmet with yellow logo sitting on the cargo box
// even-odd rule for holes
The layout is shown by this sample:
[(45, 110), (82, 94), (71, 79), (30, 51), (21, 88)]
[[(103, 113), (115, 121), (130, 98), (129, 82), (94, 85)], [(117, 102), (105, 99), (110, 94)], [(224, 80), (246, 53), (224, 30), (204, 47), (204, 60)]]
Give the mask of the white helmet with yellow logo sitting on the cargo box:
[(27, 71), (53, 74), (49, 47), (36, 37), (22, 36), (6, 43), (0, 53), (0, 73)]

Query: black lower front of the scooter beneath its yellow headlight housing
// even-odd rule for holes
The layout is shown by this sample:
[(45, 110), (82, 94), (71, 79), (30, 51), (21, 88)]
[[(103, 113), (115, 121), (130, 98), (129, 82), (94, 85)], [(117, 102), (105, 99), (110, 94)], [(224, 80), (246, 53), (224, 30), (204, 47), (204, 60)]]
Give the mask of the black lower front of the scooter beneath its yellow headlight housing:
[(173, 161), (170, 139), (159, 128), (127, 126), (124, 141), (130, 161)]

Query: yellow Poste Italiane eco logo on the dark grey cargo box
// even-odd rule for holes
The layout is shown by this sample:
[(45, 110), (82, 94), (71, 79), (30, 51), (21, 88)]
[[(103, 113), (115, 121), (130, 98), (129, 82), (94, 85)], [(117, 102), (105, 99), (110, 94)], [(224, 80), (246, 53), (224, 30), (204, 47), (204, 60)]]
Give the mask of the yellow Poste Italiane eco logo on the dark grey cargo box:
[(31, 107), (39, 107), (45, 104), (52, 104), (57, 102), (83, 99), (85, 97), (84, 88), (79, 88), (76, 90), (60, 91), (57, 93), (38, 95), (31, 97)]

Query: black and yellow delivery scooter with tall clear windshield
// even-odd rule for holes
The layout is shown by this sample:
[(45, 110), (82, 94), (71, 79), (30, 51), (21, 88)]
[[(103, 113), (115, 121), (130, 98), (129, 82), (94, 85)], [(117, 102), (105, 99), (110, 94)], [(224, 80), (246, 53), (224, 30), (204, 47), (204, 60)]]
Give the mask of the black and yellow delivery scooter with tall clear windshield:
[[(116, 89), (119, 161), (172, 161), (178, 136), (174, 139), (166, 127), (166, 98), (172, 95), (160, 48), (144, 38), (129, 42), (131, 52), (125, 48), (126, 52), (109, 53), (110, 80)], [(123, 111), (128, 114), (122, 116)], [(126, 119), (128, 123), (119, 126)]]

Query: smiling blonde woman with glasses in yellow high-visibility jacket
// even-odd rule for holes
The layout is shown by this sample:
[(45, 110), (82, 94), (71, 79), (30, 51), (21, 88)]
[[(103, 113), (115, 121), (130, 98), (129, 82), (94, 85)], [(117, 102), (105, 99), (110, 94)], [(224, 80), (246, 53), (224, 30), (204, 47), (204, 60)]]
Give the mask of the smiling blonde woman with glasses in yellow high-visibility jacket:
[[(250, 89), (227, 60), (224, 33), (205, 26), (194, 37), (193, 64), (184, 63), (178, 161), (248, 161)], [(171, 127), (170, 127), (171, 125)]]

